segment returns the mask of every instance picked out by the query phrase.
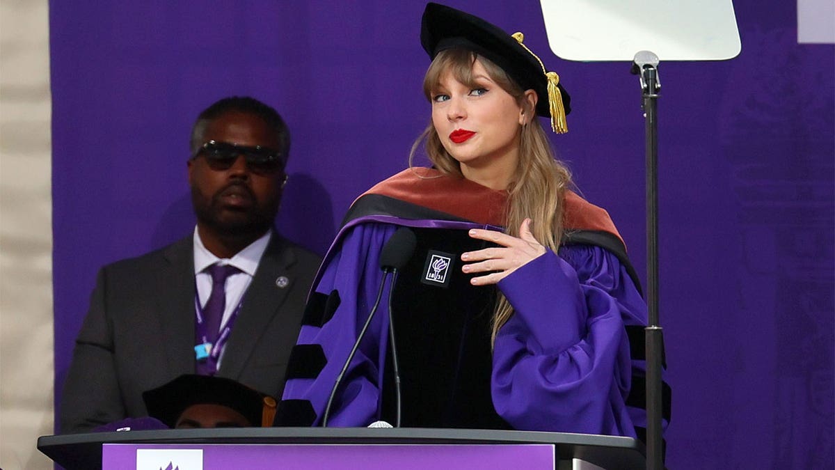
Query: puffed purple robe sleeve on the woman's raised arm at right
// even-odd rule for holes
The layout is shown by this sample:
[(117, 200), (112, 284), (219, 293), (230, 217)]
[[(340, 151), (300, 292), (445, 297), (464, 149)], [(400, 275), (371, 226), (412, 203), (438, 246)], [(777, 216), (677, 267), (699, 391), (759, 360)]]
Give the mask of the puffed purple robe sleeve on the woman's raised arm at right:
[(514, 307), (493, 352), (493, 405), (519, 430), (635, 437), (625, 398), (625, 324), (646, 306), (614, 254), (563, 247), (525, 264), (498, 288)]

